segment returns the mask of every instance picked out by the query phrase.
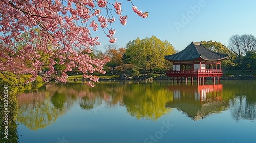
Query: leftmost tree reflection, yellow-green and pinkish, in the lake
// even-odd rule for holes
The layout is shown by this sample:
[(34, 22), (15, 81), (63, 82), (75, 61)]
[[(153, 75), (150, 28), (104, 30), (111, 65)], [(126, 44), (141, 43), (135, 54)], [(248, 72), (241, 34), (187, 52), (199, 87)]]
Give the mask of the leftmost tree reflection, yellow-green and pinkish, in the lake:
[[(17, 121), (31, 130), (44, 128), (56, 121), (73, 105), (75, 99), (66, 97), (56, 85), (18, 94)], [(67, 98), (67, 99), (66, 99)]]

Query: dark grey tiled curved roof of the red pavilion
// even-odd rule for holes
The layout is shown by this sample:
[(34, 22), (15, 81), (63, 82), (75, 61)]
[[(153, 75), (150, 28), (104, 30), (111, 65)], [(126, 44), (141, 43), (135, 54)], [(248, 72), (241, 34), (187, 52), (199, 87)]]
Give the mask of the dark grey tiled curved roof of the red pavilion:
[(204, 60), (218, 61), (218, 60), (223, 60), (227, 58), (227, 56), (228, 56), (227, 54), (213, 52), (207, 49), (206, 47), (204, 47), (199, 42), (192, 42), (182, 51), (173, 55), (164, 56), (164, 59), (172, 62), (173, 61), (191, 61), (198, 58), (201, 58)]

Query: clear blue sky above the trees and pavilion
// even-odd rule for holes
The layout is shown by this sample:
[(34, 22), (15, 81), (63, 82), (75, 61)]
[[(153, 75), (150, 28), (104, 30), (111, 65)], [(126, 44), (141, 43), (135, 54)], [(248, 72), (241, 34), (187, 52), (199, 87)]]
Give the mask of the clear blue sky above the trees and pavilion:
[[(109, 2), (114, 2), (110, 0)], [(129, 1), (123, 0), (123, 15), (128, 15), (128, 22), (121, 25), (119, 18), (113, 28), (118, 47), (125, 47), (137, 37), (143, 39), (155, 35), (160, 40), (168, 40), (175, 50), (181, 51), (192, 41), (217, 41), (228, 46), (230, 36), (234, 34), (252, 34), (256, 36), (256, 1), (231, 0), (133, 0), (140, 10), (147, 11), (144, 19), (136, 15)], [(109, 39), (99, 28), (97, 31), (100, 46), (110, 44)]]

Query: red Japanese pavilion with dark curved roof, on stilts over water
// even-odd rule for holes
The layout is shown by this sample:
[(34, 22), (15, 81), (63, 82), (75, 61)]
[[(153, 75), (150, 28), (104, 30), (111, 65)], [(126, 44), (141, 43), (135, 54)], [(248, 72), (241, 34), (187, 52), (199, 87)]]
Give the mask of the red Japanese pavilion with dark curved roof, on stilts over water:
[(197, 77), (198, 84), (201, 84), (201, 81), (204, 84), (207, 77), (212, 77), (215, 84), (215, 77), (218, 77), (219, 84), (220, 77), (223, 75), (221, 61), (227, 57), (227, 54), (216, 53), (207, 49), (200, 42), (191, 42), (182, 51), (164, 56), (164, 59), (173, 63), (173, 69), (168, 70), (166, 75), (173, 77), (173, 83), (175, 77), (177, 78), (177, 83), (179, 83), (179, 77), (181, 83), (183, 83), (182, 79), (184, 77), (186, 84), (187, 77), (191, 77), (192, 84), (194, 77)]

